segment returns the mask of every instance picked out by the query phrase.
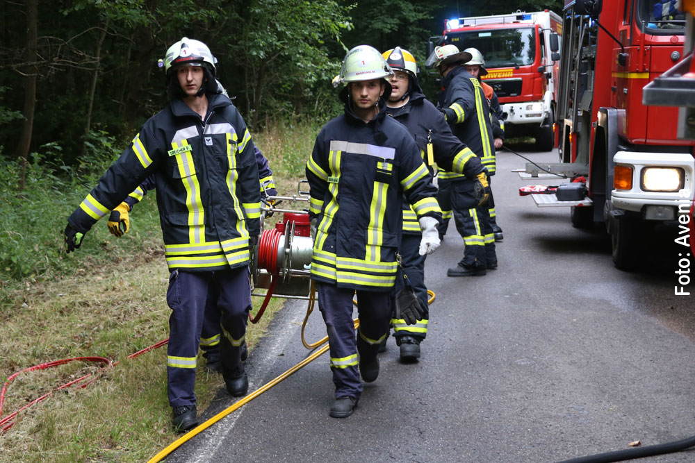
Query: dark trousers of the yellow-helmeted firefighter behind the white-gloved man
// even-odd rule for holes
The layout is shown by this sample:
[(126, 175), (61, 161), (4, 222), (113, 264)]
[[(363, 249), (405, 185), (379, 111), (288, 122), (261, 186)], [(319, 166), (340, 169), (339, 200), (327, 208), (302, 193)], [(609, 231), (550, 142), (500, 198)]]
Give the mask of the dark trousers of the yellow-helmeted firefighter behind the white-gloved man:
[[(430, 319), (430, 310), (427, 305), (427, 287), (425, 286), (425, 258), (427, 255), (420, 255), (420, 240), (422, 235), (407, 235), (403, 234), (398, 252), (403, 260), (402, 267), (404, 273), (408, 276), (408, 280), (415, 289), (415, 294), (425, 307), (423, 318), (418, 320), (414, 325), (407, 325), (404, 319), (397, 319), (395, 315), (391, 319), (393, 326), (393, 337), (412, 336), (420, 341), (427, 337), (427, 323)], [(405, 283), (400, 277), (395, 279), (395, 286), (391, 292), (391, 307), (395, 310), (395, 295), (404, 287)], [(395, 313), (395, 312), (393, 312)]]

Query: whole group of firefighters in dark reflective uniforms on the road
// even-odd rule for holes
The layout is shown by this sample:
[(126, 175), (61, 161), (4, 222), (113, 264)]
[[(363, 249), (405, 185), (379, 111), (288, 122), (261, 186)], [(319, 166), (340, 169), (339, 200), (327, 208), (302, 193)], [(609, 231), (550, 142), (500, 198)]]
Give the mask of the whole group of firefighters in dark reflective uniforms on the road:
[[(108, 228), (120, 236), (133, 205), (156, 189), (170, 270), (167, 394), (172, 425), (181, 431), (198, 423), (199, 348), (231, 396), (247, 394), (248, 269), (261, 198), (276, 194), (267, 160), (216, 79), (216, 62), (206, 44), (187, 37), (167, 49), (168, 106), (140, 128), (64, 231), (70, 253), (110, 213)], [(400, 359), (420, 357), (429, 319), (425, 258), (439, 247), (448, 219), (465, 243), (448, 276), (484, 275), (498, 265), (502, 230), (490, 176), (504, 132), (496, 96), (480, 81), (483, 57), (445, 45), (426, 65), (442, 78), (437, 106), (425, 99), (409, 51), (351, 49), (333, 82), (342, 86), (344, 112), (322, 128), (306, 164), (311, 278), (328, 332), (335, 385), (329, 415), (336, 418), (352, 414), (362, 380), (377, 379), (391, 327)]]

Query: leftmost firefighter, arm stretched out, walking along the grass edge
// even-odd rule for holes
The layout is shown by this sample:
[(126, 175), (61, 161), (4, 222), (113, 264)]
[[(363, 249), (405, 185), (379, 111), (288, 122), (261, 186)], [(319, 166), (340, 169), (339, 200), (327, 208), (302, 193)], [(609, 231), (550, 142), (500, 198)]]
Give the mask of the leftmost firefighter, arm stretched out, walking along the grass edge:
[(177, 430), (198, 422), (195, 366), (206, 304), (221, 312), (227, 391), (243, 396), (248, 389), (240, 346), (251, 308), (249, 249), (260, 231), (259, 173), (243, 118), (218, 93), (215, 62), (206, 44), (187, 37), (167, 50), (169, 105), (140, 128), (64, 232), (67, 252), (79, 248), (97, 220), (154, 175), (171, 272), (167, 393)]

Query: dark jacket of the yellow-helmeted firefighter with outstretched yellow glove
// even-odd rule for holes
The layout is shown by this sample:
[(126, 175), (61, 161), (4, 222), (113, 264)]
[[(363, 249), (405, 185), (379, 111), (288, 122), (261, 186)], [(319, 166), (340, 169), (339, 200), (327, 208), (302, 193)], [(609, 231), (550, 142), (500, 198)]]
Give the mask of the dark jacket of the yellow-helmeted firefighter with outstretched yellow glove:
[[(436, 162), (442, 169), (475, 180), (485, 169), (480, 159), (451, 133), (441, 112), (425, 99), (416, 79), (411, 77), (411, 80), (414, 85), (408, 102), (400, 108), (387, 107), (386, 113), (403, 124), (415, 138), (430, 174), (434, 174)], [(403, 233), (421, 234), (418, 217), (407, 201), (403, 201)]]

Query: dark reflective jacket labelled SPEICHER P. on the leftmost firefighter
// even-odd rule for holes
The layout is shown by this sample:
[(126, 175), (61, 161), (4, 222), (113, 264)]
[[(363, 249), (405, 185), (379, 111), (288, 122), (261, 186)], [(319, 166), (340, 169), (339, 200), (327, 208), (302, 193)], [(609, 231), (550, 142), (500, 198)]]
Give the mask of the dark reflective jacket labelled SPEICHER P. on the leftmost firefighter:
[(204, 121), (181, 99), (151, 117), (68, 221), (85, 233), (154, 174), (170, 270), (248, 264), (260, 228), (259, 174), (251, 135), (222, 94), (207, 94)]

